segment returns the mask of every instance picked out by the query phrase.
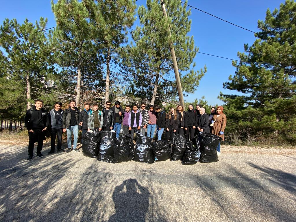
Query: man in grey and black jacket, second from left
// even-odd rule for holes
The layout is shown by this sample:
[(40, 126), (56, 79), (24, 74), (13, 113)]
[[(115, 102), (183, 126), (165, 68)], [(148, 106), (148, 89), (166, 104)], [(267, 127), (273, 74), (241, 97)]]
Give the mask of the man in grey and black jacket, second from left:
[(48, 118), (50, 120), (52, 131), (50, 139), (50, 151), (47, 154), (53, 154), (55, 150), (55, 139), (57, 137), (57, 152), (65, 152), (62, 149), (62, 135), (63, 135), (63, 115), (64, 111), (61, 109), (62, 103), (56, 102), (54, 104), (54, 109), (49, 111)]

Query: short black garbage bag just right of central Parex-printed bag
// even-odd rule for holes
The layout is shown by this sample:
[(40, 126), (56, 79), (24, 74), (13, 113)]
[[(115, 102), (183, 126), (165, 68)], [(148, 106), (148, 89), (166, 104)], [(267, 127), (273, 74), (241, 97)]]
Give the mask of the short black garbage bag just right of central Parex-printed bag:
[(165, 161), (170, 158), (172, 154), (172, 147), (170, 141), (162, 139), (152, 143), (152, 151), (155, 161)]

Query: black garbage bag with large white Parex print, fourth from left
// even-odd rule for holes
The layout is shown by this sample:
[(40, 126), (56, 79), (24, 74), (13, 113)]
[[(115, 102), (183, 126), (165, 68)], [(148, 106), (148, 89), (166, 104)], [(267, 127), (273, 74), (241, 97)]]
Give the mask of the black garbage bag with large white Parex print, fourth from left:
[(154, 163), (151, 138), (136, 132), (137, 142), (133, 160), (140, 163)]

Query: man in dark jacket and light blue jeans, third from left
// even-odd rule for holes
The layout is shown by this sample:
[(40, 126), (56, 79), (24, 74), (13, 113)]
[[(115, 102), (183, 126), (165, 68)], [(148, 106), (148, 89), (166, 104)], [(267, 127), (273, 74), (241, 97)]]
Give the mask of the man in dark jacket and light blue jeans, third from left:
[(78, 123), (79, 123), (79, 110), (77, 107), (75, 107), (76, 102), (74, 100), (70, 101), (70, 107), (69, 109), (65, 110), (63, 115), (63, 132), (67, 132), (67, 153), (71, 152), (71, 141), (72, 141), (72, 132), (74, 135), (74, 141), (73, 141), (73, 150), (75, 152), (80, 152), (77, 148), (77, 141), (78, 141)]

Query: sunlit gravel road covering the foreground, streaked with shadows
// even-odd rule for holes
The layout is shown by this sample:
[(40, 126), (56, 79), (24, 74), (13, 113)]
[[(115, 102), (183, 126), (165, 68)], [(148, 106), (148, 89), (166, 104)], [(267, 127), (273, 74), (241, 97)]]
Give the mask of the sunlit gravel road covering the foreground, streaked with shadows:
[(0, 221), (296, 221), (296, 149), (222, 146), (189, 166), (49, 150), (27, 162), (0, 139)]

